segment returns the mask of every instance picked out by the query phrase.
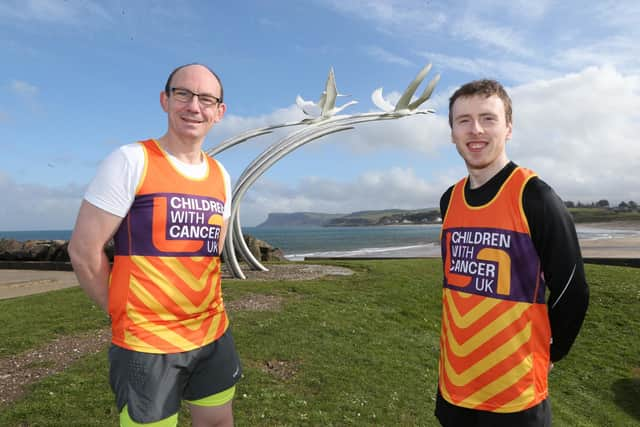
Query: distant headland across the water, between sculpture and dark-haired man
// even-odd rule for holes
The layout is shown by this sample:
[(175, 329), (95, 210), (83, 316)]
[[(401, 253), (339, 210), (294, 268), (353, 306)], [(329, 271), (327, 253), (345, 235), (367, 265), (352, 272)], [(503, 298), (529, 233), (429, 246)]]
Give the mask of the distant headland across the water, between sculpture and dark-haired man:
[(430, 224), (440, 221), (440, 210), (429, 209), (385, 209), (359, 211), (350, 214), (327, 214), (317, 212), (270, 213), (258, 227), (353, 227), (394, 224)]

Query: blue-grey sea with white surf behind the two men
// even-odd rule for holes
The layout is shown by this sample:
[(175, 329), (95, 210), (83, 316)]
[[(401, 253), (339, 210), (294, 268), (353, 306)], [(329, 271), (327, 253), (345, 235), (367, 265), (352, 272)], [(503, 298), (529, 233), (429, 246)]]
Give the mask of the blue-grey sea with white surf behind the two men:
[[(580, 239), (637, 237), (637, 230), (576, 227)], [(307, 257), (437, 257), (440, 225), (377, 227), (243, 227), (243, 233), (281, 249), (292, 261)], [(69, 240), (71, 230), (0, 231), (0, 239)]]

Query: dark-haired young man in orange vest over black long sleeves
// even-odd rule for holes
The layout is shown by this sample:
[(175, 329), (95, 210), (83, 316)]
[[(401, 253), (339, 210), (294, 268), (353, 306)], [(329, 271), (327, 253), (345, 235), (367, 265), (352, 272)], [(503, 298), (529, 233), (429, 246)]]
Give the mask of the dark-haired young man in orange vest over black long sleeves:
[(459, 88), (449, 124), (469, 175), (440, 200), (435, 414), (446, 427), (550, 426), (548, 373), (589, 301), (575, 227), (551, 187), (507, 158), (511, 99), (500, 83)]

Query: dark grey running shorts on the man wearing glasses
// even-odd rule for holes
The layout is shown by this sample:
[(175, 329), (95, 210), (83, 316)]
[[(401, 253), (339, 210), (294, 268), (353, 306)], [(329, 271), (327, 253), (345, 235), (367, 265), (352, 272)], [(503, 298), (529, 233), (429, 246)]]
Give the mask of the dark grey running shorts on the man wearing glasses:
[(150, 423), (198, 400), (233, 387), (242, 374), (231, 331), (204, 347), (172, 354), (109, 348), (109, 383), (118, 412), (127, 405), (132, 420)]

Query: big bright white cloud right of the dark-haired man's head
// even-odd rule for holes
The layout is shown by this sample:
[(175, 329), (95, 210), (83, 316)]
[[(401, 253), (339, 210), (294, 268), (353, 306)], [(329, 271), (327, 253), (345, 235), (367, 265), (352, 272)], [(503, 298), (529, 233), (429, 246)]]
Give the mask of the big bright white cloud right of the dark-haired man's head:
[(511, 90), (512, 159), (561, 197), (639, 200), (640, 77), (590, 67)]

